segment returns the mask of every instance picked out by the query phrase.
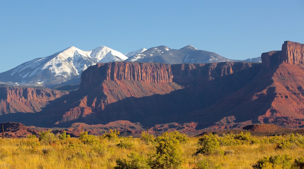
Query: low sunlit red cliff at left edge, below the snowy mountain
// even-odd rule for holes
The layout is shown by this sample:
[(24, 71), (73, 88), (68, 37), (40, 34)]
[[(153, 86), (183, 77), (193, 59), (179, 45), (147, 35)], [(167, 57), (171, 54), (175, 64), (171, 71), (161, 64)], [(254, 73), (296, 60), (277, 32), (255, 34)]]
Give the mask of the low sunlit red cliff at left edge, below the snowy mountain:
[(38, 112), (48, 101), (68, 94), (48, 88), (0, 87), (0, 115), (16, 112)]

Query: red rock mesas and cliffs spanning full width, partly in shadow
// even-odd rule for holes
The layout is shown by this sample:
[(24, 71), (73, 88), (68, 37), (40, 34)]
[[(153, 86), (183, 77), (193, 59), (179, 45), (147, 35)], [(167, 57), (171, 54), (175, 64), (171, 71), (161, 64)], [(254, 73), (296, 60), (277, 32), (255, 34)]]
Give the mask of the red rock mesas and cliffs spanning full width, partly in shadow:
[[(262, 53), (261, 59), (262, 63), (97, 63), (82, 72), (79, 89), (69, 94), (2, 87), (6, 91), (0, 95), (0, 122), (69, 127), (127, 120), (193, 130), (256, 123), (303, 127), (304, 44), (285, 41), (281, 51)], [(22, 108), (48, 93), (57, 94), (40, 105), (41, 111)]]

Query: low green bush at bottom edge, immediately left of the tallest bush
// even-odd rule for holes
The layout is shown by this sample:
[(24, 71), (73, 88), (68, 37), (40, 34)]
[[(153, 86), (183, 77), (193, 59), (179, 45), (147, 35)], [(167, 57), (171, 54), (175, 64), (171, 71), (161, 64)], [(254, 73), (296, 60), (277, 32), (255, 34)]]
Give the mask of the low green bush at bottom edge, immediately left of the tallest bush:
[(149, 169), (151, 168), (144, 156), (132, 152), (128, 155), (129, 161), (126, 159), (117, 159), (115, 169)]

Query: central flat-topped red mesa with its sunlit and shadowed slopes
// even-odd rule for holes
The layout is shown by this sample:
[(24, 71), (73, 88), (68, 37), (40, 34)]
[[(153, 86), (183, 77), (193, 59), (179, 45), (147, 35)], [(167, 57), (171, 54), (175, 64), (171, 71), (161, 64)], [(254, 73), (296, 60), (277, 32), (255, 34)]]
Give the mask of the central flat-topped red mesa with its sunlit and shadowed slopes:
[[(53, 111), (62, 114), (56, 124), (130, 120), (150, 125), (170, 121), (170, 118), (183, 121), (169, 114), (185, 114), (214, 104), (246, 84), (260, 70), (259, 65), (247, 62), (97, 64), (81, 74), (81, 88), (67, 98), (63, 105), (66, 107)], [(251, 69), (254, 73), (248, 75)], [(227, 77), (233, 74), (240, 76), (240, 80), (230, 81)], [(223, 83), (218, 85), (217, 81)], [(236, 81), (240, 83), (235, 85)], [(209, 98), (202, 102), (198, 99), (202, 95)]]

